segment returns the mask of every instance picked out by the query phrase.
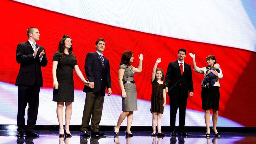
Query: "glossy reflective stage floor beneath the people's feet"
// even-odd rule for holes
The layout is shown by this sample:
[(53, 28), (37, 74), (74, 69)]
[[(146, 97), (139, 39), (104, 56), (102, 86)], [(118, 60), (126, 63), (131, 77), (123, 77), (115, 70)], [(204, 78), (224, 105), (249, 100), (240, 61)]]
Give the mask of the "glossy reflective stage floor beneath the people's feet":
[(0, 130), (0, 143), (256, 143), (256, 132), (220, 132), (220, 137), (212, 135), (206, 138), (205, 132), (188, 132), (188, 136), (170, 136), (170, 132), (164, 132), (163, 137), (151, 137), (150, 131), (135, 131), (133, 137), (126, 137), (121, 131), (115, 137), (113, 131), (105, 132), (106, 136), (80, 137), (79, 131), (71, 131), (72, 137), (58, 137), (58, 131), (35, 131), (40, 134), (38, 138), (16, 137), (16, 130)]

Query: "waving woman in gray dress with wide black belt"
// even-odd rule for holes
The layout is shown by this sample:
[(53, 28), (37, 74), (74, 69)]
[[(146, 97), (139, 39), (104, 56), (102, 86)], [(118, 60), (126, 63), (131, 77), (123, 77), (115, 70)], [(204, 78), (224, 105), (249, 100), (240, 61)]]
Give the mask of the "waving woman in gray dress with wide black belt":
[(137, 91), (134, 82), (135, 72), (142, 71), (143, 55), (138, 56), (140, 59), (138, 68), (130, 65), (133, 62), (133, 52), (125, 51), (121, 57), (121, 63), (118, 70), (119, 86), (122, 90), (122, 113), (119, 116), (117, 125), (114, 127), (114, 134), (118, 135), (121, 123), (127, 117), (126, 136), (133, 136), (131, 133), (131, 125), (133, 119), (133, 111), (137, 110)]

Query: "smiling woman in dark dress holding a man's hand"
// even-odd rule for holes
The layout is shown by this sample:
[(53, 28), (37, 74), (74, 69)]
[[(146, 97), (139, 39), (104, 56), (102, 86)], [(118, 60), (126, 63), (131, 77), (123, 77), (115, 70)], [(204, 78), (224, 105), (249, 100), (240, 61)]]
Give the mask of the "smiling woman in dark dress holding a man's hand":
[[(88, 85), (80, 71), (76, 56), (73, 55), (73, 46), (70, 36), (63, 35), (58, 46), (58, 51), (55, 52), (52, 59), (52, 76), (53, 76), (53, 99), (57, 102), (57, 118), (60, 125), (60, 136), (71, 136), (69, 130), (69, 124), (72, 114), (72, 103), (74, 101), (74, 81), (73, 81), (73, 69), (77, 76)], [(65, 109), (65, 128), (63, 128), (63, 107)]]

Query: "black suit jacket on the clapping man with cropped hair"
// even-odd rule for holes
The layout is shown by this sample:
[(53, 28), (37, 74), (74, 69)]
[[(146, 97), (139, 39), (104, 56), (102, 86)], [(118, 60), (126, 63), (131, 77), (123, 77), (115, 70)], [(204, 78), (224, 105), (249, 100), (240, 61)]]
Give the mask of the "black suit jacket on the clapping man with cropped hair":
[(37, 81), (38, 86), (43, 86), (43, 78), (41, 66), (47, 65), (46, 54), (43, 56), (42, 61), (39, 60), (39, 54), (44, 50), (44, 47), (37, 45), (39, 48), (36, 58), (34, 58), (34, 50), (29, 41), (19, 43), (16, 49), (16, 61), (20, 63), (19, 73), (15, 85), (33, 85)]

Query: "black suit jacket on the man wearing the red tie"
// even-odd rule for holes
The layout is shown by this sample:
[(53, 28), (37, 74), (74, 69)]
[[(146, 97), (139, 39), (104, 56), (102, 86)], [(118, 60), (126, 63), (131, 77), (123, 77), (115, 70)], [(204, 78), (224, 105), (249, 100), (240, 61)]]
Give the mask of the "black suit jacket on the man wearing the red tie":
[[(184, 97), (188, 97), (188, 91), (193, 92), (191, 66), (185, 62), (184, 66), (185, 68), (181, 75), (178, 60), (169, 63), (165, 77), (165, 82), (169, 90), (168, 95), (179, 96), (179, 87), (181, 87), (181, 95)], [(180, 83), (182, 83), (181, 86)]]

